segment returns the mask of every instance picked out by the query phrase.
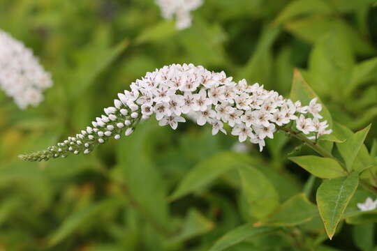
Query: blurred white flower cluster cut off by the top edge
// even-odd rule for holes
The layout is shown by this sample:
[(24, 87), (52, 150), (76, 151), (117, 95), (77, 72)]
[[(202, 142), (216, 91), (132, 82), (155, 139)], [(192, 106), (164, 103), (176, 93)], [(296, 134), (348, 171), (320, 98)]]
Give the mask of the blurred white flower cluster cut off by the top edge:
[(177, 18), (177, 29), (186, 29), (191, 26), (191, 10), (199, 8), (203, 0), (156, 0), (161, 8), (163, 17), (171, 19), (174, 15)]

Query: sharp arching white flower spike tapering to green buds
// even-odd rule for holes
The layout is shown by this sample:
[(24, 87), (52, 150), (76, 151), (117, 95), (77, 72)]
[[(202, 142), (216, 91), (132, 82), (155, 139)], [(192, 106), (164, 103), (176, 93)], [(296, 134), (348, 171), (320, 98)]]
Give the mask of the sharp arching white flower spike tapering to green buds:
[(186, 118), (199, 126), (209, 124), (212, 134), (230, 133), (239, 142), (249, 140), (260, 151), (266, 138), (283, 126), (296, 125), (297, 132), (318, 139), (329, 134), (327, 121), (320, 121), (321, 105), (316, 98), (309, 106), (267, 91), (259, 84), (248, 85), (245, 79), (234, 82), (226, 73), (214, 73), (193, 64), (164, 66), (131, 84), (131, 91), (118, 93), (114, 106), (105, 108), (85, 130), (68, 137), (47, 151), (20, 155), (24, 160), (40, 161), (66, 157), (69, 153), (90, 153), (108, 139), (128, 136), (138, 123), (153, 114), (160, 126), (176, 129)]

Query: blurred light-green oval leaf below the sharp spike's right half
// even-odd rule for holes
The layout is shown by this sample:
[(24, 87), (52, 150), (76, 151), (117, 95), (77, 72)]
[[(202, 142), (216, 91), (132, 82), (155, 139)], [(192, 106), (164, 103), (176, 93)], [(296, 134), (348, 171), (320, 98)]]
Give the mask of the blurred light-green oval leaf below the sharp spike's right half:
[(242, 192), (255, 218), (264, 218), (279, 205), (279, 195), (266, 176), (254, 167), (239, 168)]

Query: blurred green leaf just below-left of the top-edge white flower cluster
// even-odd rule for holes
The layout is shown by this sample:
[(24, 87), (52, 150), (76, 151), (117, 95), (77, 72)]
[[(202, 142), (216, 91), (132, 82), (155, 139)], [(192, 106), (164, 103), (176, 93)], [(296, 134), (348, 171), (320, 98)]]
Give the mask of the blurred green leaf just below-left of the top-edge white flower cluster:
[(135, 39), (136, 44), (157, 42), (169, 38), (177, 33), (178, 30), (175, 27), (173, 21), (162, 21), (154, 24), (154, 26), (148, 27), (140, 33)]

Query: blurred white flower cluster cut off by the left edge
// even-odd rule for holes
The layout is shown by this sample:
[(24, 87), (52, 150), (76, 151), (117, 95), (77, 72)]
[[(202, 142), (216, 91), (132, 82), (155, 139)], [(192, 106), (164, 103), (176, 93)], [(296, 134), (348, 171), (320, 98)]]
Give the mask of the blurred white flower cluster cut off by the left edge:
[(0, 30), (0, 87), (15, 100), (20, 109), (38, 105), (43, 90), (52, 86), (33, 52)]

